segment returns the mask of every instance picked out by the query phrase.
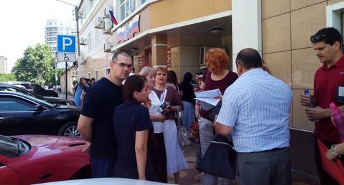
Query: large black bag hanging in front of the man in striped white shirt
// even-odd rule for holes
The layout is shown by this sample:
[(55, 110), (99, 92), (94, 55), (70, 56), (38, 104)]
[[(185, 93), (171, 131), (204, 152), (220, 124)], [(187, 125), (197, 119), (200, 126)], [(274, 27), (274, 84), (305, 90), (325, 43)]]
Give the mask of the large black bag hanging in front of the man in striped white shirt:
[(235, 150), (226, 137), (216, 135), (211, 141), (197, 170), (217, 177), (235, 179)]

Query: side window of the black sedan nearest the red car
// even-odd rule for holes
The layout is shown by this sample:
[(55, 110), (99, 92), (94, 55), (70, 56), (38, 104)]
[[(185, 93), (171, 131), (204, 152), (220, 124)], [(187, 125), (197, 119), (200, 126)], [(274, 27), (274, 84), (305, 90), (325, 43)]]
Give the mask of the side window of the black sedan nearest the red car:
[(26, 112), (33, 111), (34, 105), (13, 97), (0, 98), (0, 112)]

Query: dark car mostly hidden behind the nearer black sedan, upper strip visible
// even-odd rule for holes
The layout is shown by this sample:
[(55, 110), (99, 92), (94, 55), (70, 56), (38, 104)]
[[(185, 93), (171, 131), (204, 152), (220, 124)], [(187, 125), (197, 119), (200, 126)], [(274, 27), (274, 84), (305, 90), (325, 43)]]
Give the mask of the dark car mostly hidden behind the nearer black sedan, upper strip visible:
[(43, 101), (47, 101), (49, 103), (54, 103), (56, 105), (69, 105), (69, 106), (75, 106), (74, 101), (69, 99), (62, 99), (62, 98), (56, 98), (56, 97), (43, 97), (41, 95), (37, 95), (36, 93), (32, 93), (29, 90), (26, 90), (24, 88), (20, 88), (11, 84), (3, 84), (0, 83), (0, 90), (3, 91), (11, 91), (11, 92), (18, 92), (23, 93), (25, 95), (30, 95), (32, 97), (42, 99)]

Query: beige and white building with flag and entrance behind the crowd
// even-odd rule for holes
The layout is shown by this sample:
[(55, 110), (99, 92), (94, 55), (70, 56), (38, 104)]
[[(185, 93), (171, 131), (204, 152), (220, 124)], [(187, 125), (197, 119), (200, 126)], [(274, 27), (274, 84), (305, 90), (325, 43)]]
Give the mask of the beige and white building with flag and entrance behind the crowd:
[[(118, 25), (109, 21), (108, 10), (114, 10)], [(75, 77), (104, 77), (112, 53), (127, 51), (136, 72), (166, 66), (180, 82), (184, 73), (205, 68), (204, 53), (211, 47), (226, 49), (233, 71), (241, 49), (257, 49), (272, 75), (293, 92), (292, 169), (316, 179), (314, 123), (299, 97), (305, 89), (312, 92), (321, 66), (310, 36), (323, 27), (343, 34), (343, 0), (85, 0), (80, 11), (85, 14), (80, 38), (87, 43), (80, 46), (78, 69), (71, 69)]]

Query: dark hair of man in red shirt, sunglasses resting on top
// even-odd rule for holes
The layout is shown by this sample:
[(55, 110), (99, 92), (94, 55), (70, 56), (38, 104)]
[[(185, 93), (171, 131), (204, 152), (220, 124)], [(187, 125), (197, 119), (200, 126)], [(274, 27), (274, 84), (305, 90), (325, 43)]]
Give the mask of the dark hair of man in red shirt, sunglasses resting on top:
[(318, 42), (324, 42), (325, 44), (333, 45), (334, 42), (338, 41), (341, 47), (342, 36), (338, 29), (334, 27), (325, 27), (320, 29), (316, 34), (310, 36), (310, 42), (312, 44)]

